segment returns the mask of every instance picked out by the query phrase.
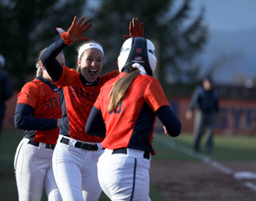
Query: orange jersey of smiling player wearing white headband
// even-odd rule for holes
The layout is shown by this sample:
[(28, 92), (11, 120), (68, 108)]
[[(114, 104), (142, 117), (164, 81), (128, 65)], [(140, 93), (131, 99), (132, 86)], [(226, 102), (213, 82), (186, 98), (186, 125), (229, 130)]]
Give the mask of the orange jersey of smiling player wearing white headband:
[[(60, 96), (64, 96), (62, 104), (62, 122), (60, 134), (69, 135), (71, 138), (88, 143), (101, 143), (101, 137), (87, 135), (85, 125), (91, 108), (98, 98), (103, 84), (116, 77), (118, 70), (100, 76), (99, 82), (94, 86), (86, 86), (81, 79), (83, 77), (75, 69), (63, 66), (63, 72), (55, 84), (62, 88)], [(62, 99), (62, 97), (60, 97)]]

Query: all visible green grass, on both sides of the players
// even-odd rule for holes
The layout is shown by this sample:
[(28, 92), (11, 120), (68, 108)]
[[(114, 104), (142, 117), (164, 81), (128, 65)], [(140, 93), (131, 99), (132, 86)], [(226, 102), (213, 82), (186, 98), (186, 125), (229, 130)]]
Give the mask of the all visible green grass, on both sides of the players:
[[(0, 141), (0, 200), (3, 201), (17, 200), (13, 163), (16, 147), (22, 139), (22, 134), (22, 131), (16, 129), (5, 129), (2, 132)], [(155, 134), (153, 146), (156, 155), (152, 157), (152, 160), (198, 160), (193, 156), (176, 150), (176, 147), (183, 146), (189, 152), (193, 152), (190, 150), (192, 143), (192, 134), (182, 133), (176, 138), (171, 138), (165, 134)], [(203, 139), (202, 146), (204, 143)], [(216, 135), (214, 143), (214, 153), (208, 155), (212, 160), (256, 160), (256, 137)], [(154, 184), (150, 185), (150, 197), (153, 201), (162, 200)], [(42, 201), (46, 200), (47, 197), (44, 194)], [(110, 199), (102, 193), (99, 200), (109, 201)]]

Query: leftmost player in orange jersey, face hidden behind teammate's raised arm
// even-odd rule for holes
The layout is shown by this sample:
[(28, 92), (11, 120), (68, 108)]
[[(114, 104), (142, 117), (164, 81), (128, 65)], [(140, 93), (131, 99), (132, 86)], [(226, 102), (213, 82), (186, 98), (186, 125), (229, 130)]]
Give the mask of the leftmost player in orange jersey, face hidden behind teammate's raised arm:
[[(59, 53), (57, 59), (65, 64), (63, 53)], [(20, 201), (40, 201), (44, 187), (48, 200), (62, 200), (51, 165), (60, 118), (58, 89), (38, 59), (36, 79), (27, 82), (17, 95), (15, 125), (25, 130), (14, 163)]]

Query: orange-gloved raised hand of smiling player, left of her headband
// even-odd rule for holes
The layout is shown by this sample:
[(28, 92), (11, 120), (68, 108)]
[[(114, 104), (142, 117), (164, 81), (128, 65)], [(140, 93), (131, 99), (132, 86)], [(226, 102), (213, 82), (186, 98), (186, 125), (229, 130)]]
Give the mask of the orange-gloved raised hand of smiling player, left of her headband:
[(90, 19), (87, 19), (86, 21), (84, 21), (84, 19), (85, 17), (82, 16), (80, 21), (77, 23), (78, 17), (75, 16), (72, 25), (69, 27), (67, 32), (60, 27), (56, 28), (67, 45), (71, 45), (73, 42), (81, 40), (89, 40), (89, 37), (82, 37), (82, 34), (84, 34), (92, 25), (89, 24)]

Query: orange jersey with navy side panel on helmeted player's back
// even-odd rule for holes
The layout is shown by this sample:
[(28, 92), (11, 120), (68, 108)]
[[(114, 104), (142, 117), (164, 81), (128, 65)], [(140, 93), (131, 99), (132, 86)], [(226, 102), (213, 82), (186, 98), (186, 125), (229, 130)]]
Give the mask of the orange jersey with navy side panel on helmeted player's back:
[[(114, 82), (125, 76), (121, 73), (102, 88), (94, 106), (101, 111), (106, 125), (106, 137), (102, 147), (111, 150), (133, 148), (154, 152), (152, 148), (155, 111), (169, 105), (160, 82), (151, 76), (137, 76), (116, 111), (108, 112), (110, 91)], [(109, 97), (109, 98), (108, 98)]]

